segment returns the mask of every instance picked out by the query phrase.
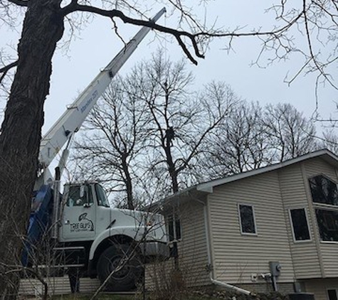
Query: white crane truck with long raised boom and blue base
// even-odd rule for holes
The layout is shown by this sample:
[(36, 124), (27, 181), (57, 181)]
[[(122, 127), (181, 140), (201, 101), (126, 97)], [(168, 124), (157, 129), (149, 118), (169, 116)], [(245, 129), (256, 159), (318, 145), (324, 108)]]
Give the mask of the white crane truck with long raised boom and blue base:
[[(159, 11), (151, 21), (157, 21), (164, 11)], [(44, 171), (37, 185), (45, 184), (32, 200), (22, 256), (24, 266), (77, 268), (83, 276), (107, 282), (109, 290), (126, 291), (134, 287), (147, 259), (168, 255), (162, 215), (110, 208), (105, 191), (97, 182), (66, 183), (63, 195), (60, 194), (60, 169), (65, 164), (68, 147), (60, 159), (60, 168), (56, 168), (55, 180), (46, 178), (51, 161), (70, 143), (112, 77), (149, 30), (142, 28), (127, 43), (43, 137), (39, 161)], [(41, 249), (49, 261), (39, 258)]]

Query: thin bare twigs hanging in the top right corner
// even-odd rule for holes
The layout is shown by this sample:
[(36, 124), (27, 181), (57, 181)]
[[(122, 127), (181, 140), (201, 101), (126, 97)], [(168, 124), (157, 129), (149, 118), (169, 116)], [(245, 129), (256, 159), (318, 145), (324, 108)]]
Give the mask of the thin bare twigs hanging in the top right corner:
[[(255, 64), (270, 65), (285, 61), (292, 56), (297, 66), (294, 73), (285, 77), (292, 83), (300, 74), (316, 74), (317, 83), (327, 83), (337, 89), (332, 70), (337, 62), (338, 26), (337, 1), (280, 1), (270, 6), (268, 12), (275, 14), (273, 31), (258, 32), (262, 48)], [(238, 35), (241, 36), (241, 33)]]

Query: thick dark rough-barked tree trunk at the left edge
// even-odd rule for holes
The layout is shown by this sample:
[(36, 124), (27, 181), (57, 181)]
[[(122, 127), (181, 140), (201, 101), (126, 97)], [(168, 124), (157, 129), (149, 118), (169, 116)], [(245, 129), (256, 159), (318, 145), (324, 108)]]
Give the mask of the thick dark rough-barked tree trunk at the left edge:
[(19, 277), (8, 264), (20, 264), (31, 193), (38, 167), (43, 103), (51, 59), (63, 35), (60, 0), (27, 1), (18, 47), (19, 63), (0, 135), (0, 294), (14, 299)]

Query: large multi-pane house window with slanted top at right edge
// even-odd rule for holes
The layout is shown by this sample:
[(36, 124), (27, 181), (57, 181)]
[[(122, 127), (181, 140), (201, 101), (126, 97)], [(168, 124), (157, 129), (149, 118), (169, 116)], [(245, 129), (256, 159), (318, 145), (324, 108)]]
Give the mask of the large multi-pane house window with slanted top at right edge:
[(320, 238), (326, 242), (338, 242), (337, 184), (322, 175), (310, 178), (309, 183)]

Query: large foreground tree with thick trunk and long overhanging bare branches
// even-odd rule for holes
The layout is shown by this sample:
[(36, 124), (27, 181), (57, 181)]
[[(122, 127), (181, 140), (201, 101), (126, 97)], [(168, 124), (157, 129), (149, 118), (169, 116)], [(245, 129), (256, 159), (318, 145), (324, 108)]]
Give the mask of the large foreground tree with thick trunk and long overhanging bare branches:
[[(139, 1), (103, 1), (96, 6), (95, 1), (72, 0), (1, 0), (0, 19), (4, 24), (13, 24), (14, 14), (23, 16), (23, 28), (17, 48), (17, 58), (0, 67), (0, 80), (4, 80), (9, 70), (16, 68), (4, 122), (0, 135), (0, 257), (3, 264), (12, 263), (19, 257), (20, 236), (26, 230), (33, 183), (38, 169), (38, 148), (43, 125), (43, 104), (49, 92), (51, 60), (56, 44), (63, 37), (65, 21), (77, 25), (76, 16), (93, 14), (110, 18), (116, 28), (115, 19), (135, 26), (149, 26), (159, 32), (169, 33), (182, 48), (186, 56), (197, 63), (196, 58), (204, 57), (204, 48), (210, 38), (229, 38), (229, 43), (237, 36), (258, 36), (263, 39), (263, 50), (275, 50), (275, 59), (285, 59), (290, 53), (301, 53), (304, 61), (298, 75), (303, 70), (319, 72), (330, 84), (327, 68), (337, 60), (337, 2), (300, 1), (296, 6), (291, 1), (282, 1), (270, 9), (275, 11), (278, 23), (267, 31), (241, 29), (231, 31), (206, 29), (204, 23), (191, 13), (186, 1), (157, 0), (154, 3), (167, 4), (179, 11), (179, 24), (168, 28), (147, 21), (147, 7)], [(200, 5), (208, 4), (208, 0)], [(78, 13), (78, 14), (76, 14)], [(134, 14), (135, 18), (127, 16)], [(186, 30), (181, 30), (185, 28)], [(292, 28), (300, 28), (304, 33), (307, 48), (294, 45)], [(316, 49), (314, 39), (324, 35), (326, 43), (334, 43), (332, 50), (322, 55)], [(319, 44), (320, 45), (320, 44)], [(281, 54), (280, 54), (281, 53)], [(290, 80), (292, 81), (293, 78)], [(14, 226), (15, 223), (15, 226)], [(1, 265), (3, 265), (1, 264)], [(2, 267), (1, 267), (2, 269)], [(0, 273), (2, 271), (0, 270)], [(9, 298), (11, 287), (0, 277), (0, 293)]]

